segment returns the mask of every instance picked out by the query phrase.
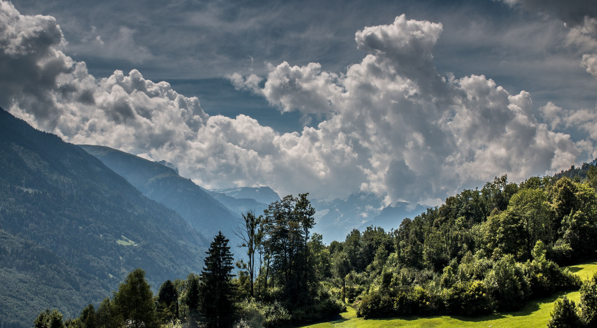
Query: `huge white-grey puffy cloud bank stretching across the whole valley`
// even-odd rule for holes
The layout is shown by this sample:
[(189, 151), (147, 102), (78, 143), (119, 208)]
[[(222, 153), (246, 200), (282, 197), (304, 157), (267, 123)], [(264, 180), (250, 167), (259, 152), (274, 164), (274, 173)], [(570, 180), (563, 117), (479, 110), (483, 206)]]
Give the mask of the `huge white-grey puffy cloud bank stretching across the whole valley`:
[[(441, 32), (439, 23), (402, 15), (356, 33), (370, 54), (346, 73), (284, 62), (270, 66), (264, 85), (231, 76), (282, 111), (324, 118), (279, 134), (248, 116), (208, 116), (197, 98), (137, 70), (94, 78), (60, 51), (66, 41), (52, 17), (22, 16), (0, 1), (0, 104), (66, 141), (173, 162), (205, 187), (270, 185), (316, 197), (361, 190), (387, 202), (439, 203), (495, 175), (520, 180), (594, 155), (592, 117), (544, 107), (550, 129), (528, 92), (511, 95), (485, 76), (439, 76), (432, 50)], [(575, 142), (553, 131), (561, 122), (590, 133)]]

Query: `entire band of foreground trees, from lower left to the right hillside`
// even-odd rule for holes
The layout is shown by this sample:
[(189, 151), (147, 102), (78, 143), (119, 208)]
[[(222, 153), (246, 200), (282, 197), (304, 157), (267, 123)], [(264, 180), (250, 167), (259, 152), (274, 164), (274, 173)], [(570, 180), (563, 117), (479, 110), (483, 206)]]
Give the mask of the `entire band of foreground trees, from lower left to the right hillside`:
[(46, 310), (35, 325), (277, 327), (326, 320), (347, 304), (364, 318), (475, 316), (580, 289), (580, 304), (556, 302), (549, 326), (595, 327), (597, 275), (582, 281), (560, 266), (595, 258), (596, 187), (597, 168), (586, 163), (519, 184), (504, 175), (395, 230), (353, 230), (330, 245), (310, 233), (315, 210), (307, 194), (289, 195), (262, 215), (244, 213), (230, 231), (243, 240), (245, 259), (233, 263), (238, 248), (220, 232), (200, 274), (167, 280), (153, 295), (139, 268), (97, 310), (90, 304), (64, 321)]

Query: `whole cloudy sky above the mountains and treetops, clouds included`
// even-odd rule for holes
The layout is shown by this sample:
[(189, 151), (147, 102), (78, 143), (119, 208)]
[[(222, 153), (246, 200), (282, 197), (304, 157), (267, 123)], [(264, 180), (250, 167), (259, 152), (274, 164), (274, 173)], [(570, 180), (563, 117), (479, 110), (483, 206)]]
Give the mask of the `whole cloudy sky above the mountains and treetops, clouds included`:
[(597, 157), (594, 1), (0, 0), (0, 106), (206, 188), (439, 205)]

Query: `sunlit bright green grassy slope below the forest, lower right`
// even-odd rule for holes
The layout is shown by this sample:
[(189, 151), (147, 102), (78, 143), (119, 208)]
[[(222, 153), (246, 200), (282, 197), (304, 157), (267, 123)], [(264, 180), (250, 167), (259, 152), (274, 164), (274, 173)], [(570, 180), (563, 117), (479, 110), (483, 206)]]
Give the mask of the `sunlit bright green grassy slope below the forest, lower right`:
[[(568, 267), (583, 280), (597, 271), (597, 261)], [(311, 324), (309, 328), (386, 328), (386, 327), (546, 327), (549, 312), (553, 310), (553, 302), (561, 296), (568, 296), (574, 302), (580, 299), (579, 292), (560, 292), (549, 298), (534, 299), (526, 307), (516, 312), (497, 313), (482, 317), (461, 317), (455, 315), (438, 317), (403, 317), (387, 319), (357, 318), (355, 309), (349, 307), (341, 313), (342, 319), (326, 323)]]

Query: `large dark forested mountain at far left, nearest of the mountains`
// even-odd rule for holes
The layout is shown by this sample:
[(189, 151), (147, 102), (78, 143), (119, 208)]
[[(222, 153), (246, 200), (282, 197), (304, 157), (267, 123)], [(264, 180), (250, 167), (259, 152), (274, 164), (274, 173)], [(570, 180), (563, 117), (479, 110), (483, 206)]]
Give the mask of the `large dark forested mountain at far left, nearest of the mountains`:
[(81, 147), (0, 109), (0, 326), (78, 315), (138, 267), (154, 289), (198, 273), (207, 245)]

